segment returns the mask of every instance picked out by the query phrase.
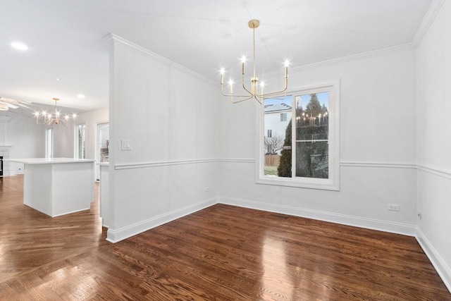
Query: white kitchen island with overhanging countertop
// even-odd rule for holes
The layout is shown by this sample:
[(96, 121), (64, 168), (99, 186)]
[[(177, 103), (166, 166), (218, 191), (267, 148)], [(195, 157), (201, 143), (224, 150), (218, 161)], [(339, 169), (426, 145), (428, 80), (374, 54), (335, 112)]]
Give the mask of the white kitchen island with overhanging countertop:
[(9, 159), (24, 164), (23, 204), (51, 217), (87, 210), (94, 201), (94, 162), (87, 159)]

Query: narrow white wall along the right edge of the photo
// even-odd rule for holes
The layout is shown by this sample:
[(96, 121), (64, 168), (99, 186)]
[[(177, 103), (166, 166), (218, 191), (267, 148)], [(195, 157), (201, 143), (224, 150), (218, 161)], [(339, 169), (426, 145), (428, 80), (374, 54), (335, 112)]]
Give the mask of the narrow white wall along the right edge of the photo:
[(417, 49), (418, 238), (451, 290), (451, 3)]

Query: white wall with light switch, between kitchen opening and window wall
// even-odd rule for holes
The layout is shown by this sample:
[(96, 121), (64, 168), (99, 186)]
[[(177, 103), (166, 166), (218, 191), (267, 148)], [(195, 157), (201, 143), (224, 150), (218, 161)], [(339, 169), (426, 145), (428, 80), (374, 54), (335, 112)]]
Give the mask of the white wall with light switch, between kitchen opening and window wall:
[(107, 219), (115, 242), (216, 202), (218, 91), (120, 37), (111, 44)]

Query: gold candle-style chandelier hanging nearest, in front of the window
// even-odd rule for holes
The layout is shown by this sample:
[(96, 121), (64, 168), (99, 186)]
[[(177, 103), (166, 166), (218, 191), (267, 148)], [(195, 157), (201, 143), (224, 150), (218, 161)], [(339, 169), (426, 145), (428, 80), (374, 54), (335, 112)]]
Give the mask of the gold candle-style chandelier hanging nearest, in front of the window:
[[(259, 27), (260, 22), (259, 20), (250, 20), (249, 21), (249, 28), (252, 28), (252, 32), (253, 32), (253, 41), (254, 41), (254, 74), (251, 78), (251, 87), (250, 89), (247, 89), (247, 87), (245, 86), (245, 62), (246, 62), (246, 57), (242, 56), (241, 58), (241, 63), (242, 63), (242, 87), (245, 90), (245, 95), (236, 95), (233, 94), (233, 80), (230, 80), (228, 83), (230, 85), (230, 94), (224, 94), (223, 91), (223, 84), (224, 84), (224, 73), (225, 70), (224, 68), (221, 68), (221, 94), (223, 94), (223, 96), (226, 97), (230, 97), (230, 101), (233, 104), (236, 104), (238, 102), (244, 102), (247, 99), (256, 99), (257, 102), (259, 102), (260, 104), (263, 104), (264, 99), (267, 98), (272, 98), (275, 94), (280, 94), (280, 93), (284, 93), (286, 96), (286, 91), (287, 91), (287, 87), (288, 87), (288, 65), (289, 65), (289, 61), (285, 60), (285, 86), (283, 87), (283, 90), (280, 91), (276, 91), (276, 92), (266, 92), (264, 93), (264, 82), (260, 83), (260, 93), (258, 92), (258, 84), (259, 84), (259, 78), (257, 78), (257, 76), (255, 75), (255, 29), (257, 27)], [(233, 99), (233, 97), (235, 97), (235, 99)]]

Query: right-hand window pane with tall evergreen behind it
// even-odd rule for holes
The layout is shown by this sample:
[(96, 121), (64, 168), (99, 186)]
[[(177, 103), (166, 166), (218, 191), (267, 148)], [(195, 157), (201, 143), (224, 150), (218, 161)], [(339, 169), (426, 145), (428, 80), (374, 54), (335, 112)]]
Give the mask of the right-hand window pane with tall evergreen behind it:
[(329, 93), (296, 96), (297, 177), (328, 178)]

